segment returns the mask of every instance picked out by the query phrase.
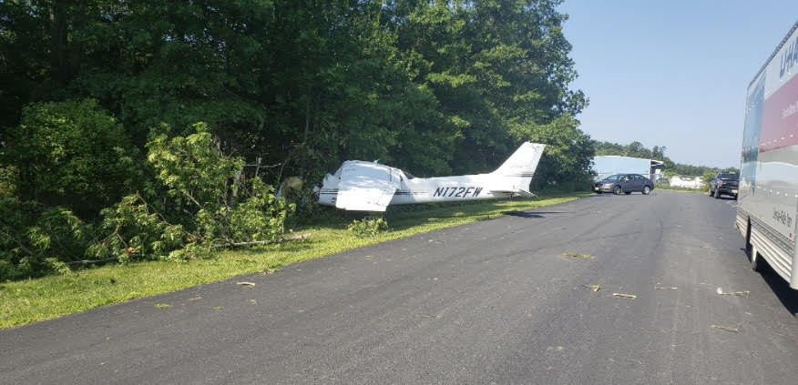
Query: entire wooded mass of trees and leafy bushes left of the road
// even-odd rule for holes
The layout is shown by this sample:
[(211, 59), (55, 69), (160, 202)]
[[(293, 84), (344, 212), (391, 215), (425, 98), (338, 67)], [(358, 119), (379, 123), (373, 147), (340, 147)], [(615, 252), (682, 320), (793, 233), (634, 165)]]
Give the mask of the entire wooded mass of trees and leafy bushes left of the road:
[[(281, 238), (269, 184), (345, 159), (478, 173), (535, 140), (537, 187), (579, 183), (559, 4), (0, 2), (0, 197), (83, 219), (84, 258), (185, 259)], [(292, 221), (318, 218), (309, 199)]]

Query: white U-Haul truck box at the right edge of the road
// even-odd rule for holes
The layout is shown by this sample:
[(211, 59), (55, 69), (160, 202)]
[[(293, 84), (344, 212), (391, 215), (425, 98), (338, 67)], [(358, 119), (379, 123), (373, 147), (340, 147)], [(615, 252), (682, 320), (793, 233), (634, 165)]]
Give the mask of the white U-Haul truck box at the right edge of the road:
[(735, 226), (752, 267), (762, 259), (798, 289), (798, 23), (748, 85)]

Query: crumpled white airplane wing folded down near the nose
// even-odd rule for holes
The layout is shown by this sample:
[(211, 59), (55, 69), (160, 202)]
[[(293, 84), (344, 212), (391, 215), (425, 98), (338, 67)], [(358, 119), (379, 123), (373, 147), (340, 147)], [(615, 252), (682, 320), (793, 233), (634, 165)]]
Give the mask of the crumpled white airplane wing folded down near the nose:
[(394, 168), (348, 161), (341, 170), (335, 207), (353, 211), (385, 211), (399, 187)]

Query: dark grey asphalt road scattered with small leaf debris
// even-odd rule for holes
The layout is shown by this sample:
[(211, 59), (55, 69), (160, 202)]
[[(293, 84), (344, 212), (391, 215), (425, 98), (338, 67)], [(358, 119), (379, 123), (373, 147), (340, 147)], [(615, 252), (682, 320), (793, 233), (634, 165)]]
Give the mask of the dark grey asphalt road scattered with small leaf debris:
[(798, 292), (735, 203), (595, 196), (8, 329), (0, 382), (796, 384)]

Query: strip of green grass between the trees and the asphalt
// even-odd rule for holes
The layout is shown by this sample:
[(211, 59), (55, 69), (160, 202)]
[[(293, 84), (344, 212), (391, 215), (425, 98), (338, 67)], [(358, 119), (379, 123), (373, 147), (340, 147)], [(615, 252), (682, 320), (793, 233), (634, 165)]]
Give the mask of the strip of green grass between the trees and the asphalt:
[[(389, 210), (385, 218), (391, 230), (375, 238), (355, 237), (345, 229), (352, 219), (342, 219), (296, 230), (295, 233), (310, 234), (304, 240), (262, 248), (224, 251), (214, 258), (183, 263), (148, 261), (107, 265), (60, 276), (7, 281), (0, 284), (0, 329), (241, 274), (269, 274), (293, 262), (475, 220), (497, 218), (510, 211), (563, 203), (589, 194), (549, 194), (535, 200), (415, 205), (413, 208)], [(169, 311), (170, 304), (159, 303), (155, 307)]]

